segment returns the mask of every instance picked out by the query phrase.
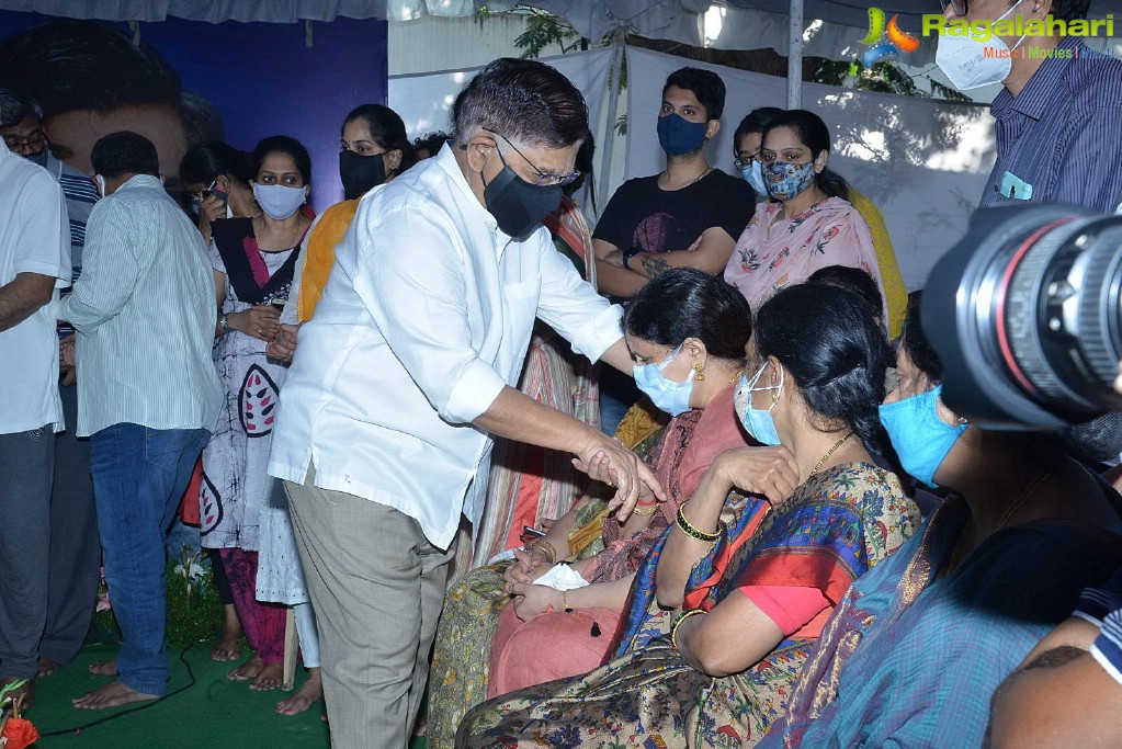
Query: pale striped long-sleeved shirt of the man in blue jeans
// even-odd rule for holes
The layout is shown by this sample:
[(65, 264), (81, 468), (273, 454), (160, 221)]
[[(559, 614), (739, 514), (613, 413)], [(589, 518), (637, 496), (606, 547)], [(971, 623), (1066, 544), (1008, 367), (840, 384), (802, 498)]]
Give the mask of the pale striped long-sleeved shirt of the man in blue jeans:
[(121, 423), (213, 429), (217, 314), (206, 248), (158, 177), (137, 175), (99, 201), (59, 313), (79, 333), (77, 436)]

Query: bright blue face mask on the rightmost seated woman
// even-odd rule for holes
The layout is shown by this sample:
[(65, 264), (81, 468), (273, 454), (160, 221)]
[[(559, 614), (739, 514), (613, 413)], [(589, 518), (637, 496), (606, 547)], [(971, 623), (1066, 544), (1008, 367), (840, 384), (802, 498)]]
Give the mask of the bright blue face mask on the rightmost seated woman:
[(967, 427), (966, 424), (950, 426), (939, 418), (937, 408), (941, 392), (940, 385), (880, 408), (881, 424), (900, 456), (900, 464), (929, 487), (938, 486), (935, 472)]

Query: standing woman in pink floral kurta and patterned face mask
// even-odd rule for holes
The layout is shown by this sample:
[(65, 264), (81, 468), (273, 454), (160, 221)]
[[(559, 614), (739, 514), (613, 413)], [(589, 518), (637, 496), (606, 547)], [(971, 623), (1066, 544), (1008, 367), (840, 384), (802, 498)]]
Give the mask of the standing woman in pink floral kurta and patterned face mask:
[[(772, 202), (756, 204), (725, 267), (753, 309), (826, 266), (861, 268), (885, 297), (868, 225), (845, 200), (848, 185), (826, 168), (829, 154), (829, 130), (812, 112), (781, 112), (764, 129), (756, 158)], [(891, 320), (888, 307), (881, 318)]]

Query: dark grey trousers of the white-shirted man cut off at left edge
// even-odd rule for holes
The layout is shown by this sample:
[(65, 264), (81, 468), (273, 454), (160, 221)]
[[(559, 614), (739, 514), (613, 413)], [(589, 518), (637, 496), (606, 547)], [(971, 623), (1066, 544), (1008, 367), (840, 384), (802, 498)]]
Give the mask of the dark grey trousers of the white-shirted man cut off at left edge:
[(54, 454), (49, 425), (0, 434), (0, 677), (34, 677), (39, 668)]

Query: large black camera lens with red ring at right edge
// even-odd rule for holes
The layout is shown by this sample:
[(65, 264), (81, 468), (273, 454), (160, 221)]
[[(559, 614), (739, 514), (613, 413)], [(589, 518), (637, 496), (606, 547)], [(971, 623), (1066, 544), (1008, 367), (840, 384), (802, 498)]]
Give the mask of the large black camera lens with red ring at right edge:
[(923, 298), (947, 404), (983, 423), (1049, 428), (1122, 409), (1120, 296), (1122, 216), (1039, 204), (976, 212)]

